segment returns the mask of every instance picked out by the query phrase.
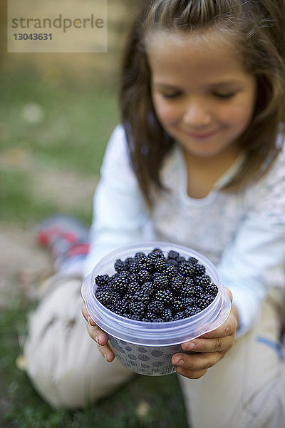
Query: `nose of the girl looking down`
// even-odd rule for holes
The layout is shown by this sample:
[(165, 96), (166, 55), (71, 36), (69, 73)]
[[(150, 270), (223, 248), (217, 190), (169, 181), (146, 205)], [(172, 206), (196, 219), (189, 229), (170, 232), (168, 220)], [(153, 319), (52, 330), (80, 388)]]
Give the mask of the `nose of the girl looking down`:
[(192, 128), (204, 128), (211, 123), (209, 106), (203, 101), (192, 99), (187, 102), (183, 114), (183, 121)]

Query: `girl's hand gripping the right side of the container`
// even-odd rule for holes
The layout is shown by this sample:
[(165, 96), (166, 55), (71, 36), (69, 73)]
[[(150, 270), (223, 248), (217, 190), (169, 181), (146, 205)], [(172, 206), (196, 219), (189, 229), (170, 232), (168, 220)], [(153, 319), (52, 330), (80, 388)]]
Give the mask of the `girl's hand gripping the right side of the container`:
[[(227, 290), (232, 302), (232, 293)], [(201, 352), (199, 354), (175, 354), (172, 364), (176, 371), (189, 379), (199, 379), (204, 376), (209, 367), (213, 367), (234, 345), (234, 335), (237, 331), (238, 313), (232, 304), (227, 320), (216, 330), (199, 336), (190, 342), (182, 343), (183, 351)]]

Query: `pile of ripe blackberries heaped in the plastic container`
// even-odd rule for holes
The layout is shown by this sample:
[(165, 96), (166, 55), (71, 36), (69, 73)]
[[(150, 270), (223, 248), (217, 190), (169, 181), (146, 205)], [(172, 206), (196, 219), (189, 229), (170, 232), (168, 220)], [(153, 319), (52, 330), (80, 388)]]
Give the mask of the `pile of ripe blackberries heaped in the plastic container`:
[(115, 261), (115, 274), (95, 277), (95, 297), (109, 310), (133, 320), (165, 322), (204, 310), (218, 288), (196, 258), (186, 260), (160, 248)]

